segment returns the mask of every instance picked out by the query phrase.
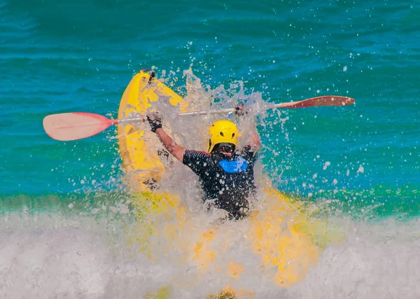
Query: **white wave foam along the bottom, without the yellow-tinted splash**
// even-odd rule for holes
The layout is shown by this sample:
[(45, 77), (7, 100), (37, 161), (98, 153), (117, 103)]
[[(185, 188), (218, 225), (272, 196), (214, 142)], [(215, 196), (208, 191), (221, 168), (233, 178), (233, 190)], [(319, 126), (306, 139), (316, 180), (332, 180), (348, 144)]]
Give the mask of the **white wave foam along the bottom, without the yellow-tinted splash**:
[[(0, 218), (1, 298), (141, 298), (169, 286), (170, 298), (204, 298), (228, 281), (220, 272), (200, 274), (180, 263), (176, 247), (160, 240), (151, 260), (127, 244), (126, 230), (92, 218), (9, 214)], [(246, 221), (225, 226), (230, 250), (247, 269), (232, 286), (254, 298), (418, 298), (419, 221), (341, 223), (342, 244), (328, 246), (307, 277), (290, 288), (272, 283), (246, 249)], [(193, 235), (191, 237), (194, 237)], [(171, 254), (171, 252), (173, 254)], [(261, 274), (262, 273), (262, 274)], [(230, 279), (232, 281), (232, 279)]]

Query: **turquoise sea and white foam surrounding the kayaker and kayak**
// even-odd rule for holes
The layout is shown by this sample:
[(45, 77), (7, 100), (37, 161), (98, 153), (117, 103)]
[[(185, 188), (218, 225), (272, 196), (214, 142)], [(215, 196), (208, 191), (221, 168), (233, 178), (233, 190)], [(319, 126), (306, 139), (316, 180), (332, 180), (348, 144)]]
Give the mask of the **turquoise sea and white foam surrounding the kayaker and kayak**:
[(419, 29), (418, 1), (0, 0), (0, 298), (223, 288), (217, 275), (173, 283), (186, 269), (127, 245), (136, 220), (115, 130), (69, 142), (43, 131), (52, 113), (116, 118), (143, 68), (182, 96), (193, 74), (245, 101), (356, 99), (258, 125), (273, 186), (347, 230), (288, 288), (252, 274), (237, 284), (255, 298), (419, 298)]

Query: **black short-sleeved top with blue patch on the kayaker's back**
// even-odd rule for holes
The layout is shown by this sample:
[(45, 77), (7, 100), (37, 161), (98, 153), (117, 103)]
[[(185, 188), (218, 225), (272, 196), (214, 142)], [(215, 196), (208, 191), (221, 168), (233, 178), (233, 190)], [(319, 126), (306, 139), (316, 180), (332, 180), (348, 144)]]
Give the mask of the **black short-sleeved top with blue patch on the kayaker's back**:
[(200, 177), (204, 200), (215, 200), (215, 207), (228, 211), (230, 218), (242, 218), (248, 211), (248, 197), (255, 195), (256, 160), (251, 146), (231, 156), (188, 150), (183, 155), (183, 164)]

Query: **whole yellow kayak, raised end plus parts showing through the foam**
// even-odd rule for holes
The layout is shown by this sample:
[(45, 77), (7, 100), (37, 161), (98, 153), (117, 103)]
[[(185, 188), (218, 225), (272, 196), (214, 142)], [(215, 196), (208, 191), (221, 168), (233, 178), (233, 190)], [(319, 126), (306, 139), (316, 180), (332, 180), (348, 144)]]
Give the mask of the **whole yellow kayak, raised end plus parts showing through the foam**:
[[(188, 111), (188, 103), (176, 92), (155, 79), (150, 71), (139, 71), (125, 89), (118, 118), (144, 116), (152, 104), (158, 101), (177, 106), (181, 112)], [(170, 123), (165, 125), (171, 127)], [(142, 221), (139, 229), (134, 232), (135, 241), (141, 244), (141, 249), (148, 256), (156, 258), (153, 256), (153, 237), (163, 236), (167, 242), (185, 251), (183, 256), (186, 263), (199, 265), (204, 273), (221, 271), (229, 277), (226, 284), (234, 284), (242, 272), (252, 270), (247, 270), (237, 260), (217, 258), (232, 246), (226, 241), (227, 236), (221, 226), (203, 228), (200, 232), (197, 229), (200, 224), (192, 223), (188, 209), (182, 207), (177, 195), (155, 189), (155, 182), (159, 182), (165, 173), (168, 156), (158, 139), (151, 137), (152, 134), (148, 124), (118, 125), (118, 142), (125, 177), (127, 185), (137, 194), (139, 221)], [(257, 209), (246, 219), (250, 251), (258, 256), (262, 273), (272, 273), (270, 277), (273, 284), (288, 287), (304, 279), (310, 267), (316, 265), (323, 246), (331, 242), (327, 223), (311, 217), (312, 212), (304, 204), (272, 188), (269, 183), (265, 182), (261, 189), (264, 193), (261, 195), (263, 208)], [(145, 225), (152, 223), (150, 219), (157, 216), (164, 219), (160, 223), (167, 221), (168, 224), (162, 224), (159, 228)], [(193, 235), (198, 237), (194, 239), (191, 237)], [(220, 244), (223, 244), (223, 250), (220, 250)], [(225, 262), (221, 263), (221, 260)], [(228, 290), (235, 293), (230, 287)], [(250, 295), (252, 290), (244, 293)]]

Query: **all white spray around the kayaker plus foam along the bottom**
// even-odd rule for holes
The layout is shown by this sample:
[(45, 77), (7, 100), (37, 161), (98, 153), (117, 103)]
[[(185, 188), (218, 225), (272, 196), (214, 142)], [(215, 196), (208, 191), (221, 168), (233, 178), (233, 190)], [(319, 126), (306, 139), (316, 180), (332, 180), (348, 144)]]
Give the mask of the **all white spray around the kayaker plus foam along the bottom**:
[[(241, 83), (211, 89), (191, 71), (185, 76), (193, 109), (246, 102), (247, 118), (225, 116), (238, 122), (240, 145), (255, 125), (262, 134), (272, 126), (261, 95)], [(165, 102), (153, 109), (179, 144), (200, 150), (207, 127), (221, 118), (179, 118)], [(153, 138), (145, 132), (146, 141)], [(274, 154), (262, 148), (262, 155)], [(272, 188), (261, 164), (253, 215), (220, 221), (223, 211), (205, 211), (193, 172), (170, 159), (165, 166), (155, 193), (98, 193), (78, 209), (69, 205), (71, 213), (65, 207), (3, 212), (0, 298), (214, 298), (208, 296), (222, 290), (236, 298), (416, 297), (417, 221), (338, 218), (328, 202)]]

